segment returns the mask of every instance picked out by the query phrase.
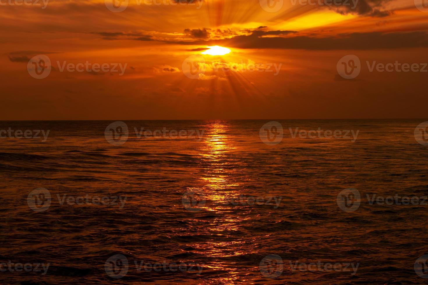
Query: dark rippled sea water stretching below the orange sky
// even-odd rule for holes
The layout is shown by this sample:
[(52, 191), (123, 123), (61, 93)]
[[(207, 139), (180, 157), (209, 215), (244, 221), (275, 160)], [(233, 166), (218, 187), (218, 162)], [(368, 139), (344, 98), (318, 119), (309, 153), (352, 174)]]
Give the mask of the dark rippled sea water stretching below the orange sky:
[[(125, 121), (126, 141), (123, 128), (107, 130), (116, 141), (106, 138), (114, 120), (1, 121), (0, 130), (49, 135), (0, 138), (0, 263), (49, 267), (44, 274), (41, 265), (41, 272), (3, 265), (0, 283), (428, 282), (425, 269), (421, 277), (414, 267), (428, 254), (423, 198), (409, 205), (367, 198), (428, 196), (428, 145), (414, 135), (427, 120), (277, 120), (278, 144), (259, 135), (269, 121)], [(354, 141), (293, 138), (289, 127), (359, 132)], [(141, 128), (186, 134), (138, 138)], [(347, 188), (360, 193), (358, 209), (339, 207)], [(74, 203), (85, 196), (110, 200)], [(317, 262), (358, 267), (302, 265)], [(157, 271), (135, 263), (190, 265)]]

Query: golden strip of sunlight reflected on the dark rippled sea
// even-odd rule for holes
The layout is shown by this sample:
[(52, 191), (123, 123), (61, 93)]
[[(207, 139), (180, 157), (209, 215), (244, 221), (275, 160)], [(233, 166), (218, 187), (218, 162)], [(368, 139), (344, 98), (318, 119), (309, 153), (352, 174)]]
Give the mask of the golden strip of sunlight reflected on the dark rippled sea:
[[(241, 195), (241, 183), (236, 182), (238, 179), (233, 181), (230, 178), (236, 175), (238, 165), (235, 165), (231, 159), (233, 157), (231, 153), (237, 149), (237, 146), (227, 135), (230, 132), (229, 124), (224, 121), (214, 121), (210, 122), (208, 128), (210, 133), (201, 153), (209, 162), (205, 174), (201, 177), (204, 181), (205, 199), (207, 200), (204, 209), (215, 213), (217, 217), (205, 227), (205, 230), (213, 237), (211, 241), (196, 244), (194, 247), (206, 256), (214, 258), (211, 264), (206, 265), (207, 267), (213, 270), (225, 270), (229, 273), (228, 277), (219, 277), (216, 282), (234, 284), (237, 279), (244, 281), (242, 271), (239, 272), (239, 265), (235, 261), (226, 263), (223, 260), (250, 253), (248, 249), (242, 250), (242, 245), (248, 243), (248, 240), (242, 238), (230, 240), (231, 233), (241, 231), (242, 224), (250, 220), (250, 211), (240, 209), (240, 217), (237, 217), (235, 208), (241, 206), (234, 206), (230, 203), (230, 199)], [(234, 266), (234, 264), (236, 265)]]

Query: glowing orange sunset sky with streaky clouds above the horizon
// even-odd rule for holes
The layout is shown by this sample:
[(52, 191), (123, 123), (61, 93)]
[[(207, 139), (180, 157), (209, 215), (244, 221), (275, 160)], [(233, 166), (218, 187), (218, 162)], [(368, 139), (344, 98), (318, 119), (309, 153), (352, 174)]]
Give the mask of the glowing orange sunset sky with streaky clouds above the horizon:
[[(427, 117), (428, 72), (366, 65), (428, 62), (428, 6), (424, 12), (413, 0), (359, 0), (355, 9), (269, 0), (280, 5), (276, 12), (263, 0), (129, 0), (122, 12), (104, 0), (51, 0), (45, 9), (42, 0), (7, 1), (1, 120)], [(201, 54), (208, 46), (230, 53)], [(36, 55), (51, 60), (44, 79), (27, 71)], [(205, 60), (196, 78), (183, 72), (192, 55)], [(361, 61), (354, 79), (336, 70), (347, 55)], [(60, 71), (57, 61), (126, 69)], [(247, 69), (254, 65), (271, 71)]]

